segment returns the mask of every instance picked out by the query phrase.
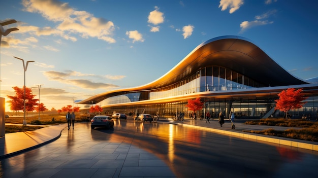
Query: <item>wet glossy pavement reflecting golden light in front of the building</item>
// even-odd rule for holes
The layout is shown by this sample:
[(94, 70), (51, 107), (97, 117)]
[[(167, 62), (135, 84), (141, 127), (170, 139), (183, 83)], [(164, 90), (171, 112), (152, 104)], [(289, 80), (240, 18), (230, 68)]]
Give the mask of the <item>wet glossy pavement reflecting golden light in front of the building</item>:
[[(315, 177), (318, 153), (168, 123), (76, 123), (43, 147), (1, 160), (4, 177)], [(200, 121), (197, 121), (200, 122)]]

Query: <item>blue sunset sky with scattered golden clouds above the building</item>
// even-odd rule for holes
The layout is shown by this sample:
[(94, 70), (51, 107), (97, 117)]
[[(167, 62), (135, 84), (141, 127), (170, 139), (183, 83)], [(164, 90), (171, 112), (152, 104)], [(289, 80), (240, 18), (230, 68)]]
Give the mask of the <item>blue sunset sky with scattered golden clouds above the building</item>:
[[(11, 0), (0, 20), (1, 97), (26, 87), (47, 109), (152, 82), (201, 43), (239, 35), (300, 79), (318, 77), (318, 1)], [(144, 73), (146, 71), (146, 73)], [(277, 76), (279, 77), (279, 76)], [(37, 94), (38, 88), (33, 88)], [(7, 105), (6, 111), (9, 111)]]

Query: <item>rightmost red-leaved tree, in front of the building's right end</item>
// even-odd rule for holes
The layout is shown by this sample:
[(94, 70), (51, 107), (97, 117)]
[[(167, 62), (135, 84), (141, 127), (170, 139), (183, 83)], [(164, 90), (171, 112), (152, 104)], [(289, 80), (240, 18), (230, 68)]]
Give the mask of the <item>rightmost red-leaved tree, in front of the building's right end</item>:
[(285, 112), (286, 120), (290, 110), (300, 109), (306, 103), (303, 100), (307, 97), (304, 97), (304, 94), (301, 93), (302, 91), (303, 89), (289, 88), (278, 93), (279, 99), (275, 100), (275, 110)]

